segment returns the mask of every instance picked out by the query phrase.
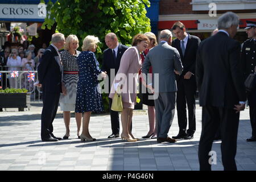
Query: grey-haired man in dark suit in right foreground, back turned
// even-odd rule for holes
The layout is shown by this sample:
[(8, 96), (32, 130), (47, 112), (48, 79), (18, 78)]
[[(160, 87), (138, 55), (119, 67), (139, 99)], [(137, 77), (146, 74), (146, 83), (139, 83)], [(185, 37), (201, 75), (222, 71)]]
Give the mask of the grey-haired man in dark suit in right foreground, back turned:
[(240, 63), (241, 46), (232, 39), (238, 24), (239, 18), (232, 12), (220, 16), (218, 33), (201, 42), (197, 52), (196, 81), (200, 106), (203, 106), (200, 170), (211, 169), (210, 151), (219, 126), (224, 170), (237, 170), (238, 122), (246, 101)]

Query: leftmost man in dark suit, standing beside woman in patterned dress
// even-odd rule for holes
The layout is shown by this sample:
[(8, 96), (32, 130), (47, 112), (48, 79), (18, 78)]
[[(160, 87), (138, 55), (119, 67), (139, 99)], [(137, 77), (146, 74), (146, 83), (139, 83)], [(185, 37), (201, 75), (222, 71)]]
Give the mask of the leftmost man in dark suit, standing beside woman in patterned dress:
[(42, 61), (38, 67), (38, 86), (43, 86), (43, 110), (41, 115), (41, 138), (43, 142), (55, 142), (61, 138), (53, 135), (52, 122), (59, 105), (62, 88), (63, 66), (60, 61), (59, 49), (63, 48), (65, 37), (63, 34), (52, 35), (52, 44), (44, 51)]

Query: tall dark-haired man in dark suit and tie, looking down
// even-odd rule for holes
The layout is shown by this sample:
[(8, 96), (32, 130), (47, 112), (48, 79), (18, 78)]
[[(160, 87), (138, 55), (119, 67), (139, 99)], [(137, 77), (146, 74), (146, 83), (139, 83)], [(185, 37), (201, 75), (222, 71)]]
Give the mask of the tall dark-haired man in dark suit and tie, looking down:
[[(179, 123), (179, 134), (174, 139), (192, 139), (196, 131), (196, 52), (201, 40), (197, 36), (185, 32), (185, 26), (176, 22), (172, 26), (177, 39), (172, 42), (181, 57), (184, 67), (177, 80), (177, 118)], [(188, 105), (188, 130), (187, 130), (187, 105)]]

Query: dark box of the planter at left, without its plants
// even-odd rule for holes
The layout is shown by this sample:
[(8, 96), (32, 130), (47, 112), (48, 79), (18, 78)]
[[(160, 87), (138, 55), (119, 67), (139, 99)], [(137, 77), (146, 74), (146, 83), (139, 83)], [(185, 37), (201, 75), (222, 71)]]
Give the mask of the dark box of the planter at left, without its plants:
[(19, 111), (24, 111), (24, 107), (28, 107), (27, 93), (0, 93), (0, 109), (1, 108), (19, 108)]

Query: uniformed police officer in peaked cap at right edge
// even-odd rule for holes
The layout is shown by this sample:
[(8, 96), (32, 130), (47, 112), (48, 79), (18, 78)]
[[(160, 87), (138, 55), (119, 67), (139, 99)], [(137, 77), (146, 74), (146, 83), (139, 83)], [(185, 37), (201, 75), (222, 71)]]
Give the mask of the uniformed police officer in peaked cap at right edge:
[[(256, 67), (256, 22), (247, 20), (245, 30), (249, 39), (243, 43), (241, 58), (243, 72), (246, 79), (251, 73), (255, 72), (254, 69)], [(247, 93), (247, 100), (250, 106), (249, 111), (252, 129), (252, 136), (251, 138), (246, 139), (247, 142), (256, 141), (256, 102), (254, 101), (255, 95), (255, 89)]]

